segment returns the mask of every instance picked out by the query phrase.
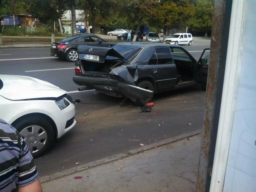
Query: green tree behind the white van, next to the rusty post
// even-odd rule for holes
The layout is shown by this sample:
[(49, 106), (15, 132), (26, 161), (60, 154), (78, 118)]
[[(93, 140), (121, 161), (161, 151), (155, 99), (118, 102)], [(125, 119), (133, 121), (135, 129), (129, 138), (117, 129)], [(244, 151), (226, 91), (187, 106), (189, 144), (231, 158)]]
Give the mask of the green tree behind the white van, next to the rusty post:
[(213, 0), (197, 0), (195, 15), (190, 20), (190, 28), (193, 31), (204, 31), (205, 36), (212, 30)]

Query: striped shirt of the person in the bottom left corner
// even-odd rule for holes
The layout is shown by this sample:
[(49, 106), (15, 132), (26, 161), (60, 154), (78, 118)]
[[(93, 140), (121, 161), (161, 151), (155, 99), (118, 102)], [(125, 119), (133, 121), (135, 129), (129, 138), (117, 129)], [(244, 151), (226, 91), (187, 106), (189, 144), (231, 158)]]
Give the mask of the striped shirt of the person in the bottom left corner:
[(0, 192), (17, 191), (38, 179), (33, 157), (18, 131), (0, 119)]

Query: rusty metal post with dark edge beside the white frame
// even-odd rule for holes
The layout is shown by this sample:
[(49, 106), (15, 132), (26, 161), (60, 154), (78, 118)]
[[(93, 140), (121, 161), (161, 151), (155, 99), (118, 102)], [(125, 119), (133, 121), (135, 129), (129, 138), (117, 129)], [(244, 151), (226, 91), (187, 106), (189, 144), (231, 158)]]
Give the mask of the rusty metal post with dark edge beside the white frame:
[(232, 0), (215, 0), (197, 192), (208, 192), (219, 123)]

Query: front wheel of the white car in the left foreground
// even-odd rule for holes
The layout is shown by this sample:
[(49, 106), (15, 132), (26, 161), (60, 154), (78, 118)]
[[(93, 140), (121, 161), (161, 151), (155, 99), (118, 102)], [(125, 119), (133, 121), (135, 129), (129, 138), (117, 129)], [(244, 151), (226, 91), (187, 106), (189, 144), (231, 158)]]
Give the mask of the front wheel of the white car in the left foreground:
[(53, 126), (44, 117), (22, 118), (12, 126), (20, 132), (34, 158), (43, 155), (54, 142)]

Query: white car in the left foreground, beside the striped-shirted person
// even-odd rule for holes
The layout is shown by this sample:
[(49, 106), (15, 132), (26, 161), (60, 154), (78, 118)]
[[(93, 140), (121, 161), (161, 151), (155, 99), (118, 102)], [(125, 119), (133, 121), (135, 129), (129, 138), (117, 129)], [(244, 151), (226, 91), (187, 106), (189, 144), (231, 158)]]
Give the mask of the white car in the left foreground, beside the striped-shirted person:
[(32, 155), (45, 153), (76, 124), (66, 91), (36, 78), (0, 75), (0, 119), (15, 127)]

